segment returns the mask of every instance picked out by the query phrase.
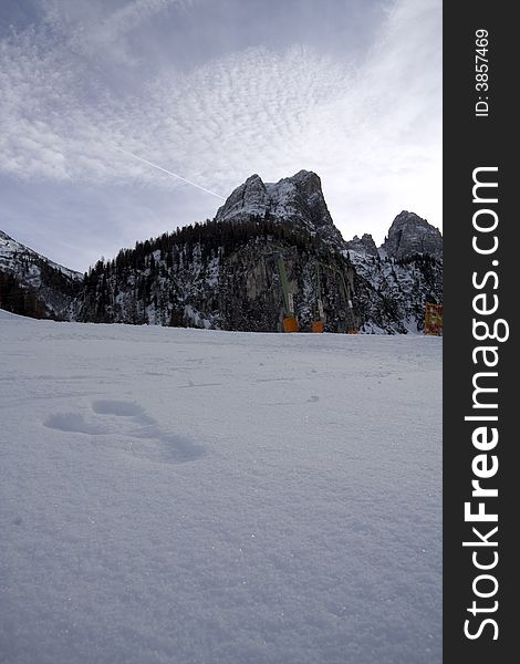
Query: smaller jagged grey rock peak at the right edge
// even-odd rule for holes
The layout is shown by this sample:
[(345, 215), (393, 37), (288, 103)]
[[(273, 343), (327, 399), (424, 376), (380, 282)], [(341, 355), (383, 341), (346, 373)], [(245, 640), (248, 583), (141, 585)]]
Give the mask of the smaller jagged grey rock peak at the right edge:
[(415, 253), (428, 253), (441, 258), (443, 236), (438, 228), (428, 224), (426, 219), (422, 219), (415, 212), (403, 210), (394, 219), (382, 249), (389, 258), (397, 260)]

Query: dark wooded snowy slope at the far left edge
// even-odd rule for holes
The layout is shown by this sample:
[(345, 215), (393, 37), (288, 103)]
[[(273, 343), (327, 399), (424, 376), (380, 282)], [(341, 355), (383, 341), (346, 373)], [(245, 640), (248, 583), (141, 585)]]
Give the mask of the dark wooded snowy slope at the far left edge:
[(0, 230), (0, 307), (35, 318), (70, 320), (83, 276)]

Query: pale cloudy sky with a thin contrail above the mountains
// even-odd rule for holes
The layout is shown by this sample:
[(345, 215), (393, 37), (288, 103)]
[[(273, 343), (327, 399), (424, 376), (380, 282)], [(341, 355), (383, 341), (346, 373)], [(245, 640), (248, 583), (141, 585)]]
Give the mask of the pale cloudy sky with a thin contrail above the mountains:
[(441, 228), (441, 0), (2, 0), (0, 229), (84, 270), (322, 179), (345, 239)]

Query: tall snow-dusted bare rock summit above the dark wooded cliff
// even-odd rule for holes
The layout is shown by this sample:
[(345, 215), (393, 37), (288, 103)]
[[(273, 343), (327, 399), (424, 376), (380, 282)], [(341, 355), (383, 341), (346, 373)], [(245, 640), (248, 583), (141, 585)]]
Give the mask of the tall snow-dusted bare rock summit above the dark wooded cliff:
[(326, 207), (320, 177), (300, 170), (278, 183), (263, 183), (257, 174), (237, 187), (217, 210), (217, 221), (248, 221), (253, 217), (300, 227), (325, 242), (343, 242)]

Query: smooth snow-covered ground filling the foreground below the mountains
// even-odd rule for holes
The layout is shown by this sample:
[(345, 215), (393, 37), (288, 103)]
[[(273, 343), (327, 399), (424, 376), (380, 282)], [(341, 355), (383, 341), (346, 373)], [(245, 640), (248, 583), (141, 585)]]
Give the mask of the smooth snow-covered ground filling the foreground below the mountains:
[(439, 663), (440, 360), (0, 312), (0, 661)]

